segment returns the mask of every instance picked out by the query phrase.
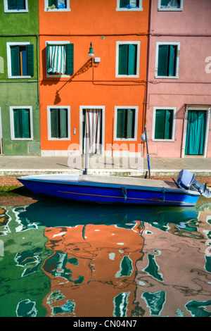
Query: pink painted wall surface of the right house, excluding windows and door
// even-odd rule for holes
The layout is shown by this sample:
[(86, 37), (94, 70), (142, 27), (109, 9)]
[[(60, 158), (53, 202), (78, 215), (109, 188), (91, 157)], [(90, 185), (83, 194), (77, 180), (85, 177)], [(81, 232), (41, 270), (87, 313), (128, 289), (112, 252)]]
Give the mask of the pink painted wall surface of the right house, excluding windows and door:
[[(211, 72), (205, 72), (208, 64), (205, 59), (211, 57), (210, 15), (210, 0), (184, 0), (183, 11), (158, 11), (158, 1), (152, 0), (147, 100), (147, 130), (151, 156), (181, 157), (185, 104), (211, 105)], [(178, 79), (155, 78), (157, 42), (180, 42)], [(177, 107), (174, 142), (152, 141), (155, 106)], [(211, 121), (209, 128), (211, 130)], [(211, 131), (207, 158), (211, 158)]]

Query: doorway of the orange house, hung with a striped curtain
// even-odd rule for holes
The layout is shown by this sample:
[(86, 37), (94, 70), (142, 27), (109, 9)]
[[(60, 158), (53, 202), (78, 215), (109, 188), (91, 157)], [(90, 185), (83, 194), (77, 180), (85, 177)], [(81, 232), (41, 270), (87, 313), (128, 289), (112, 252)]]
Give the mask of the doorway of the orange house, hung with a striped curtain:
[[(89, 154), (101, 154), (102, 152), (102, 109), (83, 109), (83, 150), (85, 148), (85, 136), (89, 134)], [(85, 150), (84, 150), (85, 152)]]

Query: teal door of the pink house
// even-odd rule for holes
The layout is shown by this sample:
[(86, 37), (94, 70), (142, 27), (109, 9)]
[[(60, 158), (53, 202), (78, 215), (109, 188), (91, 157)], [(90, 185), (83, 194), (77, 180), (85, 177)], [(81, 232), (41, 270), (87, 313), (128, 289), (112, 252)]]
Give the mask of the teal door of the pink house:
[(186, 155), (203, 155), (207, 126), (206, 111), (188, 111)]

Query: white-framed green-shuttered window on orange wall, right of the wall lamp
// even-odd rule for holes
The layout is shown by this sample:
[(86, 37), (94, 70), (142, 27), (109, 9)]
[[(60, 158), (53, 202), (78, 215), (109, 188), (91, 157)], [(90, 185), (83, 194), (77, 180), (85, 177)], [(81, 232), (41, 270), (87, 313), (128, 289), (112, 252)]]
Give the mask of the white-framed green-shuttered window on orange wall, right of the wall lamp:
[(140, 42), (117, 42), (116, 77), (139, 77)]

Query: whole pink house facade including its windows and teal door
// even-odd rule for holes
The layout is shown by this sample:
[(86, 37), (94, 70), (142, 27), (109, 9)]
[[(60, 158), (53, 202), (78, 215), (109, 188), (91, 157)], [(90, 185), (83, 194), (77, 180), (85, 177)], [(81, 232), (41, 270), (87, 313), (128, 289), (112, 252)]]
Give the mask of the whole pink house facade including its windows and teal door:
[(151, 156), (211, 158), (210, 16), (210, 0), (151, 0), (146, 86)]

